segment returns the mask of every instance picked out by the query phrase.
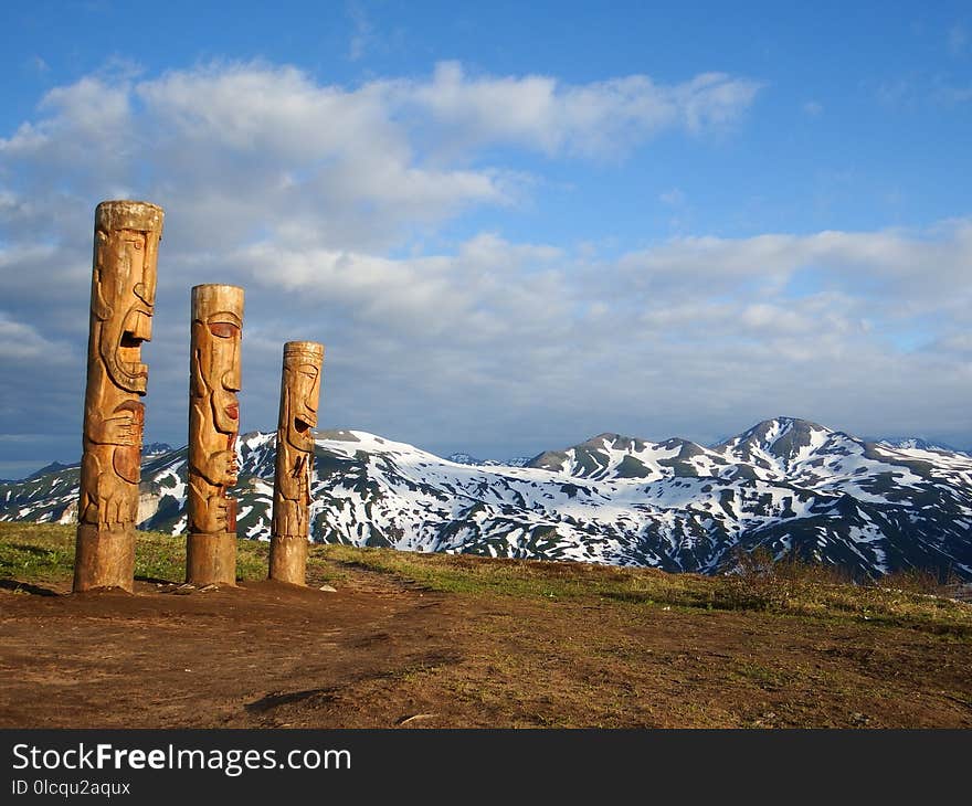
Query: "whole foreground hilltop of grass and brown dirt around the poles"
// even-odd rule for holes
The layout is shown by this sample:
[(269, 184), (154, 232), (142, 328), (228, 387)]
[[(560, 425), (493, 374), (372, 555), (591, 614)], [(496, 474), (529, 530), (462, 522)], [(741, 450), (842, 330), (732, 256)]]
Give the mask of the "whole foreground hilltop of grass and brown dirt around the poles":
[(52, 596), (73, 544), (0, 523), (0, 727), (972, 727), (972, 605), (921, 576), (315, 545), (304, 590), (241, 541), (240, 587), (172, 596), (184, 540), (140, 533), (139, 595)]

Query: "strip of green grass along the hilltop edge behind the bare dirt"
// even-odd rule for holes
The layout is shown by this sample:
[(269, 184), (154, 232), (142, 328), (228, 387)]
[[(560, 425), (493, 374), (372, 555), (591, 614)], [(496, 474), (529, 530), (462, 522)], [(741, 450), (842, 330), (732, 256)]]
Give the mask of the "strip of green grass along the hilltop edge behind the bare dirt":
[[(0, 579), (70, 583), (74, 533), (71, 526), (0, 522)], [(267, 543), (240, 540), (237, 577), (266, 579), (267, 554)], [(136, 577), (167, 582), (184, 579), (184, 537), (138, 532), (135, 556)], [(923, 587), (909, 591), (838, 582), (817, 566), (793, 563), (756, 563), (738, 575), (701, 576), (590, 563), (314, 545), (308, 558), (308, 584), (341, 583), (360, 570), (458, 595), (759, 611), (905, 626), (972, 640), (972, 605), (931, 595)]]

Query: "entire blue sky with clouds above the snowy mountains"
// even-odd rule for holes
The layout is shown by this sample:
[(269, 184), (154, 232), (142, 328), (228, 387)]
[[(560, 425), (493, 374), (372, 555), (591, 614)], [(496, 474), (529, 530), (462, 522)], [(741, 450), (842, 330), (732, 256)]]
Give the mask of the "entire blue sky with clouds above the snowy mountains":
[(310, 339), (321, 427), (440, 454), (780, 414), (972, 447), (969, 4), (646, 6), (4, 8), (0, 477), (80, 456), (118, 198), (166, 210), (148, 441), (232, 283), (243, 429)]

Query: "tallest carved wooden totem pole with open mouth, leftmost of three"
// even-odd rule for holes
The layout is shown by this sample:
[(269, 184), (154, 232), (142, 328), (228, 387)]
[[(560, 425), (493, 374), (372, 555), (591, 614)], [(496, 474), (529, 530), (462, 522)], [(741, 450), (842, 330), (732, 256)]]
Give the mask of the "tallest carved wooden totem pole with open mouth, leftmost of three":
[(161, 208), (106, 201), (95, 210), (84, 453), (74, 590), (135, 584), (135, 524)]

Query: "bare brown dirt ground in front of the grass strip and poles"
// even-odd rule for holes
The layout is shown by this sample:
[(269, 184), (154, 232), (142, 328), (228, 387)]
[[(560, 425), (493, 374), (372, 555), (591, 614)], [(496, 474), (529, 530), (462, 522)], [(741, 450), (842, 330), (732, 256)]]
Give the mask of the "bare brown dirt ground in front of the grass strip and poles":
[(0, 590), (0, 727), (972, 727), (972, 645), (741, 612), (432, 593)]

